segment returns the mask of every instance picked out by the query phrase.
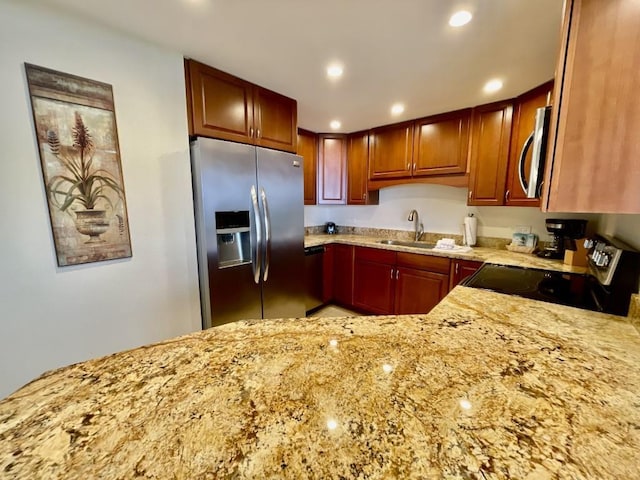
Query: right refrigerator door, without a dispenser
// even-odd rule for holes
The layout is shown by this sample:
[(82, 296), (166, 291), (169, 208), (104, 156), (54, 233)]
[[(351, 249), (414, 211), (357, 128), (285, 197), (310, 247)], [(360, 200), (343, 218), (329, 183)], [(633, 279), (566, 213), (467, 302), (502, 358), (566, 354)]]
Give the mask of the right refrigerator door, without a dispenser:
[(263, 317), (304, 317), (302, 158), (257, 148), (257, 161), (265, 237)]

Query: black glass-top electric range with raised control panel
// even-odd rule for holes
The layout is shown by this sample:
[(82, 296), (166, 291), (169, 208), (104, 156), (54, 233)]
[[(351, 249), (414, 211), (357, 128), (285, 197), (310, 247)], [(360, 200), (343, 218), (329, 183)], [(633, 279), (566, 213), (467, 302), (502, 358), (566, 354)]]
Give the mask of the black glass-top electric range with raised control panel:
[(589, 273), (585, 275), (485, 264), (463, 285), (627, 315), (631, 294), (638, 291), (640, 252), (604, 235), (591, 240), (590, 248)]

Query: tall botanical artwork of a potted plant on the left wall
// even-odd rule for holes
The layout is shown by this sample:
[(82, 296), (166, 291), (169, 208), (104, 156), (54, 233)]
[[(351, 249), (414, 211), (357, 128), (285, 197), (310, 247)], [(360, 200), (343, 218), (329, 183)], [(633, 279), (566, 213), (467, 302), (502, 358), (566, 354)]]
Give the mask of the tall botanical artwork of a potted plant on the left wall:
[(130, 257), (111, 85), (25, 70), (58, 265)]

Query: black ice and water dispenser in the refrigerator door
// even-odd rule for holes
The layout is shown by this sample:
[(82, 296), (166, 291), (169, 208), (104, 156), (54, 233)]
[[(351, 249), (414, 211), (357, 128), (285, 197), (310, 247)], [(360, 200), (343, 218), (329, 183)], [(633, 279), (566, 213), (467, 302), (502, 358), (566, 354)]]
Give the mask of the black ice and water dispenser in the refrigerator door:
[(249, 211), (216, 212), (218, 268), (251, 263)]

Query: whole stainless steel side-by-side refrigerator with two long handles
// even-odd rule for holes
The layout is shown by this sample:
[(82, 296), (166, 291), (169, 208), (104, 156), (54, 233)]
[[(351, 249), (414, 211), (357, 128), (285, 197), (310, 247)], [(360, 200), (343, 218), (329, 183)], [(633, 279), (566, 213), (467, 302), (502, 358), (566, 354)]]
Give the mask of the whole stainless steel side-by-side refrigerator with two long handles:
[(301, 157), (197, 138), (191, 169), (203, 328), (303, 317)]

